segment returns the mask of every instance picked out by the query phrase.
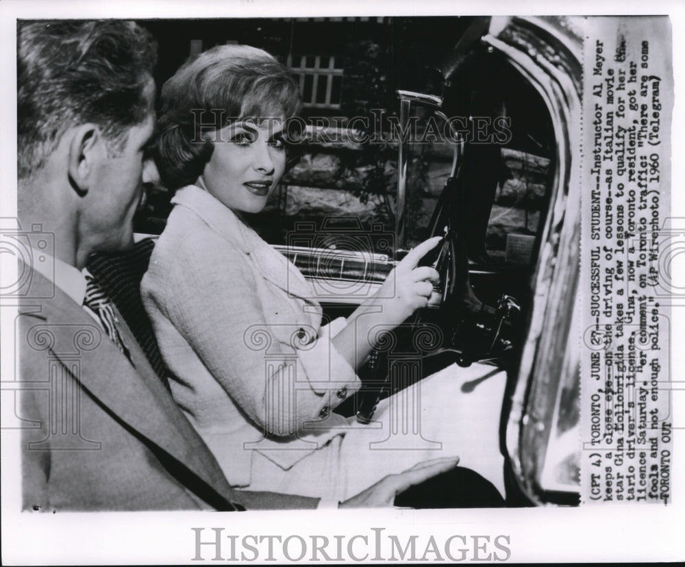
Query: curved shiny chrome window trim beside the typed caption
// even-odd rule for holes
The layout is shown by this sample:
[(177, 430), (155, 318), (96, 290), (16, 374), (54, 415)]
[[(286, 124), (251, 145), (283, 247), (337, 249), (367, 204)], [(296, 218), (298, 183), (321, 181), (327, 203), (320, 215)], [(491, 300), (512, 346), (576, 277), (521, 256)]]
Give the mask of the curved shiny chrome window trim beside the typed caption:
[[(580, 18), (577, 18), (580, 20)], [(573, 18), (493, 18), (497, 37), (482, 38), (538, 91), (551, 116), (557, 141), (549, 213), (532, 277), (534, 297), (525, 344), (506, 423), (506, 449), (514, 477), (533, 503), (543, 505), (540, 486), (549, 423), (564, 373), (576, 371), (580, 349), (568, 349), (580, 276), (580, 42)], [(559, 31), (567, 22), (568, 33)], [(536, 38), (540, 45), (531, 40)], [(526, 41), (528, 40), (528, 41)], [(558, 52), (551, 60), (549, 47)], [(570, 69), (570, 71), (569, 71)], [(579, 345), (580, 346), (580, 345)], [(560, 356), (560, 353), (564, 355)], [(549, 401), (553, 400), (550, 407)], [(541, 403), (544, 401), (545, 403)], [(550, 413), (551, 411), (551, 413)], [(580, 438), (579, 438), (580, 449)], [(580, 487), (579, 487), (580, 488)], [(572, 490), (573, 491), (573, 490)], [(575, 492), (575, 491), (573, 491)]]

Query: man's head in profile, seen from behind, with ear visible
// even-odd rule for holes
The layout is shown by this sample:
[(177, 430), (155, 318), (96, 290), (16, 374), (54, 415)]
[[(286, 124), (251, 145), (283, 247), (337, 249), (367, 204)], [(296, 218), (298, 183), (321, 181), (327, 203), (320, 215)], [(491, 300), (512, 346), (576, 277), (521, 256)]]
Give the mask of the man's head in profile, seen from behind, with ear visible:
[(151, 173), (155, 51), (133, 22), (18, 26), (20, 215), (48, 225), (50, 210), (66, 217), (78, 264), (132, 240), (143, 176)]

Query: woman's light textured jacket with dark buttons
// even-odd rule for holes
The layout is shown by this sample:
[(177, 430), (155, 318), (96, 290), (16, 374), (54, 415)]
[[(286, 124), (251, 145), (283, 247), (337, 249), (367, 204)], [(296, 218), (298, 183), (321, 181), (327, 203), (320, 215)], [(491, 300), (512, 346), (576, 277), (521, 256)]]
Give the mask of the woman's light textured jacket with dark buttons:
[(321, 326), (310, 284), (234, 212), (196, 186), (175, 207), (141, 290), (174, 399), (229, 482), (251, 451), (284, 469), (349, 427), (331, 410), (360, 387)]

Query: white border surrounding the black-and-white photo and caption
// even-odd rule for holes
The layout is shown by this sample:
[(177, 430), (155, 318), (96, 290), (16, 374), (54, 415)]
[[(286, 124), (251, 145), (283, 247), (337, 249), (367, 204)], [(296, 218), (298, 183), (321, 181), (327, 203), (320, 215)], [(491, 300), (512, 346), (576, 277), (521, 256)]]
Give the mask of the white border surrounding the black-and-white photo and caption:
[[(460, 14), (669, 14), (673, 26), (672, 216), (685, 218), (685, 191), (676, 188), (685, 179), (685, 125), (683, 94), (685, 62), (685, 5), (677, 1), (525, 3), (477, 1), (305, 1), (275, 0), (180, 1), (118, 0), (111, 2), (62, 0), (4, 0), (0, 2), (0, 216), (16, 216), (16, 20), (17, 18), (210, 18), (260, 16), (390, 16)], [(685, 281), (685, 264), (675, 266), (675, 279)], [(683, 310), (673, 309), (674, 344), (685, 337)], [(2, 333), (12, 332), (7, 320)], [(673, 373), (685, 369), (685, 349), (673, 351)], [(3, 377), (14, 368), (10, 353), (3, 351)], [(5, 378), (3, 378), (5, 379)], [(679, 414), (685, 407), (675, 409)], [(2, 562), (3, 564), (197, 564), (192, 527), (223, 528), (239, 537), (256, 535), (367, 535), (384, 528), (406, 541), (410, 535), (445, 541), (452, 535), (471, 538), (508, 536), (510, 561), (673, 561), (685, 559), (685, 435), (674, 436), (673, 503), (667, 507), (581, 506), (577, 508), (458, 509), (369, 511), (296, 511), (207, 513), (97, 513), (22, 514), (18, 442), (3, 433), (2, 463)], [(473, 540), (471, 540), (473, 541)], [(367, 550), (368, 551), (368, 550)], [(206, 555), (209, 557), (209, 555)], [(385, 555), (384, 557), (389, 557)], [(260, 557), (260, 562), (265, 558)], [(308, 562), (305, 557), (302, 562)], [(374, 562), (373, 555), (365, 562)], [(378, 561), (382, 562), (382, 561)], [(214, 562), (216, 563), (216, 562)]]

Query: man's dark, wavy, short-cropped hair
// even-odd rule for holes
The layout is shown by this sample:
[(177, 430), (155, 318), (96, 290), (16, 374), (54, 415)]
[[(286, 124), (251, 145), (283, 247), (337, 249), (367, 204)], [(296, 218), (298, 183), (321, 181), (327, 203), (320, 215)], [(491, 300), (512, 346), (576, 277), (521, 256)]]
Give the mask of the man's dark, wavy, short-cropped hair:
[(157, 60), (148, 31), (131, 21), (23, 21), (17, 27), (17, 170), (45, 164), (64, 131), (99, 125), (110, 151), (145, 120)]

